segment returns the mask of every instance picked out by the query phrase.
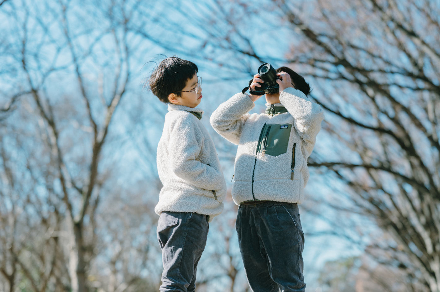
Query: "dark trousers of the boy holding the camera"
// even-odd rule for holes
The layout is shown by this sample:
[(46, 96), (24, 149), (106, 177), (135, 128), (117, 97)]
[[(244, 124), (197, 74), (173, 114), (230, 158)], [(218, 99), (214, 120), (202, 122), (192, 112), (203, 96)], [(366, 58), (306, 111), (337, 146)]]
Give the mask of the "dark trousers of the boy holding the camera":
[(304, 234), (297, 204), (240, 205), (238, 243), (253, 292), (304, 292)]

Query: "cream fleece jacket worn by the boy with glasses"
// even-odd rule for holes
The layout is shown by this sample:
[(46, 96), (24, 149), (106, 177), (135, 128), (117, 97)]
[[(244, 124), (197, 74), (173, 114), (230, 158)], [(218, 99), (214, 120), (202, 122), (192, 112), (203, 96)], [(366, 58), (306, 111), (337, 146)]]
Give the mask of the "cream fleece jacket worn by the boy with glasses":
[(203, 111), (169, 104), (158, 144), (157, 166), (163, 187), (154, 211), (223, 211), (226, 184), (214, 143), (200, 122)]

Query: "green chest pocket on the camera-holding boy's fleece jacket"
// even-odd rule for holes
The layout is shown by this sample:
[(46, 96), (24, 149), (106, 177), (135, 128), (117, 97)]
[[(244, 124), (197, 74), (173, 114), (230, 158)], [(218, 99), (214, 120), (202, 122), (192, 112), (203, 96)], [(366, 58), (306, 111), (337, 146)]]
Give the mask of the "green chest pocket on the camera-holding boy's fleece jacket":
[(261, 155), (278, 156), (286, 153), (292, 124), (264, 124), (258, 141), (257, 152)]

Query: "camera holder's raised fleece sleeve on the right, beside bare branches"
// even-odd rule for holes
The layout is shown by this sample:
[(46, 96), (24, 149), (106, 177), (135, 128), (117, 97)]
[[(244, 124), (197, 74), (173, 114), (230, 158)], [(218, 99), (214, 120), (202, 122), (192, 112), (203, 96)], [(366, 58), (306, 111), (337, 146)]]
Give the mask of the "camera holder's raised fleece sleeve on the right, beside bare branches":
[(322, 108), (310, 101), (302, 91), (293, 87), (283, 90), (279, 95), (279, 101), (293, 116), (295, 129), (304, 141), (309, 156), (324, 119)]

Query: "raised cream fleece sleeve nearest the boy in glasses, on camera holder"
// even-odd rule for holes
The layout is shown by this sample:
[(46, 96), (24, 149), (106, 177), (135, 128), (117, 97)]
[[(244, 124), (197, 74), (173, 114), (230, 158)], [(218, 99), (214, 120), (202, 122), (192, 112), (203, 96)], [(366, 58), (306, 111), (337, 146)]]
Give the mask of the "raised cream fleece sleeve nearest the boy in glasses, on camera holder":
[(209, 120), (214, 130), (227, 141), (238, 145), (249, 111), (255, 106), (247, 94), (238, 93), (219, 105)]

